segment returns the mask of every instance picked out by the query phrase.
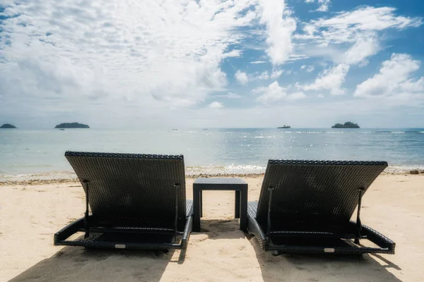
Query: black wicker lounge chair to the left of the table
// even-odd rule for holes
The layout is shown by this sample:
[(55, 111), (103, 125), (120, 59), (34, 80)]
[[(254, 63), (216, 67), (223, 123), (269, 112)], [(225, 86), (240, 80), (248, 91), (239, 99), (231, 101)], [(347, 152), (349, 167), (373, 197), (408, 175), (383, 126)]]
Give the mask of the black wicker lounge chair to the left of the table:
[[(65, 156), (86, 192), (86, 214), (54, 234), (54, 245), (187, 247), (193, 204), (186, 200), (183, 156), (88, 152)], [(85, 235), (68, 240), (77, 232)]]

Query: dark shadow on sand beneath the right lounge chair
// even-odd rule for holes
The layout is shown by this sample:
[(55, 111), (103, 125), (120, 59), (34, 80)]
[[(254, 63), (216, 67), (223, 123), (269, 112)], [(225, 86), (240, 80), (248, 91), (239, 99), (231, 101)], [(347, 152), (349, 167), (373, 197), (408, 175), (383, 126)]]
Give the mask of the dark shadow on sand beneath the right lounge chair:
[(279, 255), (274, 257), (271, 252), (261, 250), (254, 236), (247, 235), (247, 238), (256, 252), (264, 282), (401, 281), (388, 270), (390, 268), (400, 270), (399, 266), (380, 255)]

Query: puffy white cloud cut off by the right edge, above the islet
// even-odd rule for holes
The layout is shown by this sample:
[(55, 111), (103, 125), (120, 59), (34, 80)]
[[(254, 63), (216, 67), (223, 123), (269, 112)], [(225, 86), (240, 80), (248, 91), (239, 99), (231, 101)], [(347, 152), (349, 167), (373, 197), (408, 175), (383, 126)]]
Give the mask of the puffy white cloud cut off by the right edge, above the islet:
[(413, 60), (410, 55), (392, 54), (382, 63), (379, 73), (357, 85), (355, 96), (424, 98), (424, 77), (411, 78), (411, 74), (419, 68), (420, 61)]

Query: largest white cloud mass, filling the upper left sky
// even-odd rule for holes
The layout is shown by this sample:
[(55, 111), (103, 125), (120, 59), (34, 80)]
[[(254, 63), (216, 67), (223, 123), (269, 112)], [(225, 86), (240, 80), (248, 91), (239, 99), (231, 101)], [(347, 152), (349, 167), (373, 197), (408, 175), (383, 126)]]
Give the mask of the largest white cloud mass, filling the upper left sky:
[[(251, 1), (25, 1), (1, 21), (0, 88), (11, 101), (189, 106), (222, 91), (223, 59), (256, 17)], [(89, 104), (89, 103), (87, 103)], [(49, 108), (49, 109), (47, 109)]]

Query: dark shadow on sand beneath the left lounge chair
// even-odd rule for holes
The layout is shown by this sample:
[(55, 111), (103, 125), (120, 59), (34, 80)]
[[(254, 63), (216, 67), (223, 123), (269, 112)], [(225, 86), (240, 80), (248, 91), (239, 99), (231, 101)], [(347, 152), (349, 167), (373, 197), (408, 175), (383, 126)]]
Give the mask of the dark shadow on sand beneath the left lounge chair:
[(179, 250), (155, 252), (64, 247), (10, 281), (155, 282), (160, 281), (168, 264), (182, 264), (184, 255), (185, 252)]

